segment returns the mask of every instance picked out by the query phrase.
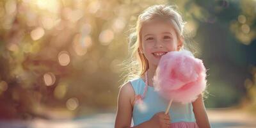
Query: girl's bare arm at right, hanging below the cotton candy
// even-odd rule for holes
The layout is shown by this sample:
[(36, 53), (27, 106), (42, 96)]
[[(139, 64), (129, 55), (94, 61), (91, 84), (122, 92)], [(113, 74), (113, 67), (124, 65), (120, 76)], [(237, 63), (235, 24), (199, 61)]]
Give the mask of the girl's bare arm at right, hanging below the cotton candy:
[(199, 95), (198, 99), (193, 104), (193, 111), (196, 117), (196, 124), (198, 127), (208, 128), (211, 127), (209, 119), (205, 110), (204, 101), (202, 95)]

